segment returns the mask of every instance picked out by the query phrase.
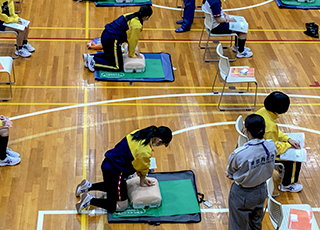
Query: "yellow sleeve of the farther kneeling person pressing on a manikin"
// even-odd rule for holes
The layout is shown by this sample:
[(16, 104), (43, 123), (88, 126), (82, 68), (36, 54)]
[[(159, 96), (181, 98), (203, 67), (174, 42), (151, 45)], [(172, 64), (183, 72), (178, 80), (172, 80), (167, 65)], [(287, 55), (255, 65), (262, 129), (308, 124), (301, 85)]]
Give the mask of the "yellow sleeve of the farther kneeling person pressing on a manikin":
[(142, 24), (140, 23), (139, 19), (133, 18), (128, 21), (129, 30), (127, 31), (127, 40), (128, 40), (128, 52), (129, 57), (135, 57), (135, 49), (138, 45), (140, 33), (142, 31)]

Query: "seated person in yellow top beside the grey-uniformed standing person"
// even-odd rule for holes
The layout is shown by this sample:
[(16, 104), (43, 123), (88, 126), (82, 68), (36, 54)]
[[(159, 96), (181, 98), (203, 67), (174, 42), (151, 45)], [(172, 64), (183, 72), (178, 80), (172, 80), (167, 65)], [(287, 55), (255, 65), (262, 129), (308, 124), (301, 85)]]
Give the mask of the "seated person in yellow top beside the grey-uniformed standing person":
[(280, 184), (279, 189), (283, 192), (300, 192), (303, 189), (301, 184), (298, 184), (301, 162), (283, 161), (279, 156), (289, 148), (300, 149), (300, 144), (289, 138), (281, 132), (276, 124), (276, 119), (280, 114), (286, 113), (290, 106), (290, 98), (279, 91), (272, 92), (264, 100), (264, 108), (259, 109), (256, 114), (261, 115), (266, 123), (266, 132), (264, 139), (274, 141), (278, 153), (276, 162), (281, 162), (285, 167), (285, 174)]

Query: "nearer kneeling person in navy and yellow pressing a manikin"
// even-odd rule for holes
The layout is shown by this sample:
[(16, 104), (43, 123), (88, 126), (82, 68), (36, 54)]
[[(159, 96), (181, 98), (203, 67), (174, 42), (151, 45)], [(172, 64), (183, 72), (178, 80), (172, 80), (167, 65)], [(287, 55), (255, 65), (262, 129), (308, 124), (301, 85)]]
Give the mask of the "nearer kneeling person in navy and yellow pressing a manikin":
[[(83, 180), (76, 188), (76, 196), (81, 195), (76, 204), (78, 213), (88, 205), (107, 209), (108, 212), (123, 211), (128, 207), (126, 179), (134, 174), (140, 177), (140, 186), (153, 186), (153, 181), (146, 177), (153, 147), (169, 145), (172, 132), (165, 126), (149, 126), (135, 130), (125, 136), (113, 149), (105, 153), (101, 170), (103, 182), (90, 183)], [(99, 190), (107, 192), (107, 199), (93, 198), (88, 192)]]

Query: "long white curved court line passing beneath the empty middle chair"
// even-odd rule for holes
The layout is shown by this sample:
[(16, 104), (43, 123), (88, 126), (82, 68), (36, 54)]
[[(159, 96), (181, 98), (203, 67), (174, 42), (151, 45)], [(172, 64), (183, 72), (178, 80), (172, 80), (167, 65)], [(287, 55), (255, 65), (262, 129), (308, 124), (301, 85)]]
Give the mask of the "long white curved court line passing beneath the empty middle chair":
[[(130, 98), (120, 98), (120, 99), (114, 99), (114, 100), (106, 100), (106, 101), (96, 101), (96, 102), (90, 102), (90, 103), (83, 103), (78, 105), (70, 105), (70, 106), (64, 106), (59, 107), (55, 109), (47, 109), (42, 110), (38, 112), (33, 113), (27, 113), (15, 117), (10, 117), (10, 120), (17, 120), (25, 117), (31, 117), (39, 114), (45, 114), (45, 113), (51, 113), (61, 110), (67, 110), (67, 109), (74, 109), (74, 108), (80, 108), (85, 106), (93, 106), (93, 105), (101, 105), (101, 104), (110, 104), (110, 103), (116, 103), (116, 102), (124, 102), (124, 101), (135, 101), (135, 100), (146, 100), (146, 99), (155, 99), (155, 98), (170, 98), (170, 97), (197, 97), (197, 96), (218, 96), (220, 95), (220, 92), (218, 94), (213, 93), (183, 93), (183, 94), (165, 94), (165, 95), (152, 95), (152, 96), (142, 96), (142, 97), (130, 97)], [(238, 93), (224, 93), (224, 95), (239, 95)], [(242, 93), (241, 95), (247, 95), (252, 96), (254, 93)], [(258, 93), (258, 96), (267, 96), (269, 93)], [(314, 99), (320, 99), (320, 96), (314, 96), (314, 95), (294, 95), (294, 94), (287, 94), (289, 97), (300, 97), (300, 98), (314, 98)]]

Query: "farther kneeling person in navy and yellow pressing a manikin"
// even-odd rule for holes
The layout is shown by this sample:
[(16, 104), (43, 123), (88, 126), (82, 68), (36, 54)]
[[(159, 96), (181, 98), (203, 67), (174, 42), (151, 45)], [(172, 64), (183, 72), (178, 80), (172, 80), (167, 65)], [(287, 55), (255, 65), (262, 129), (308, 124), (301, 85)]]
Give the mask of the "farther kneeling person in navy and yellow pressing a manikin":
[(129, 57), (141, 58), (135, 52), (135, 49), (143, 28), (143, 22), (150, 18), (152, 12), (150, 5), (143, 5), (138, 12), (122, 15), (105, 25), (101, 35), (103, 53), (83, 54), (84, 66), (88, 67), (92, 72), (95, 69), (114, 72), (123, 71), (121, 45), (125, 42), (128, 43)]

